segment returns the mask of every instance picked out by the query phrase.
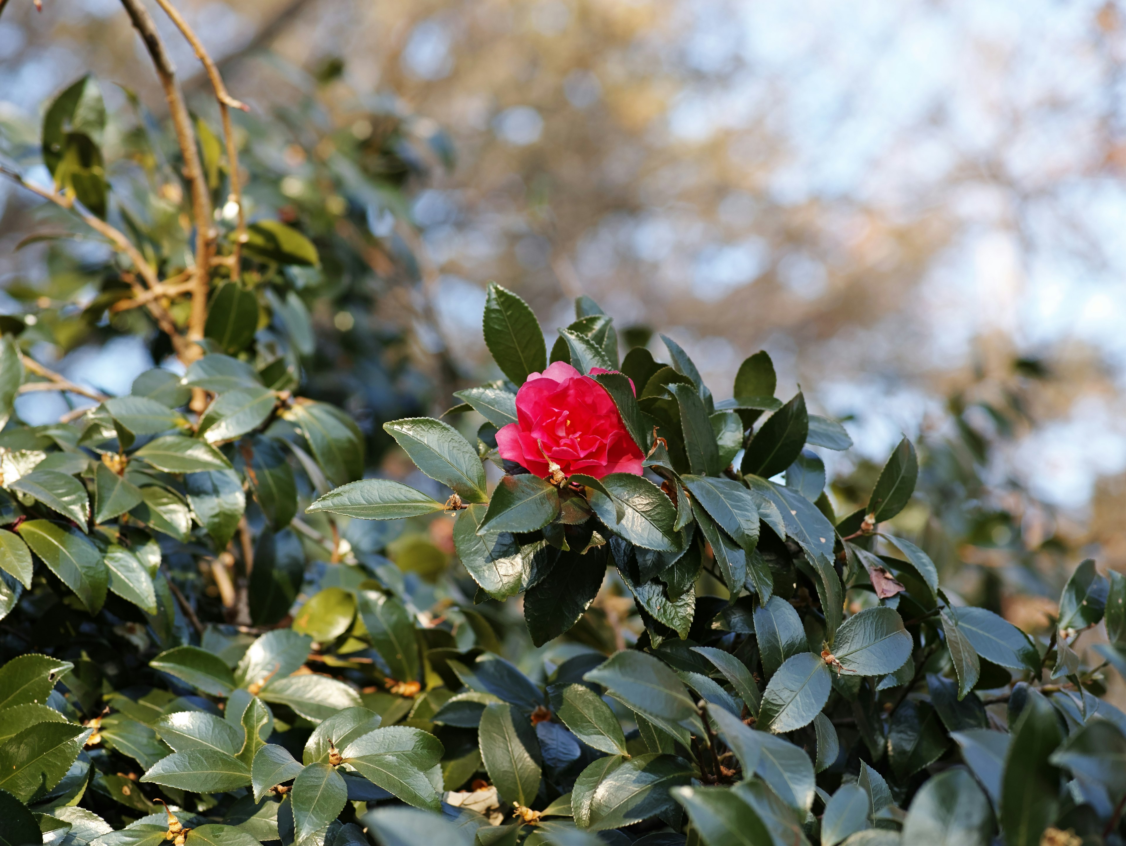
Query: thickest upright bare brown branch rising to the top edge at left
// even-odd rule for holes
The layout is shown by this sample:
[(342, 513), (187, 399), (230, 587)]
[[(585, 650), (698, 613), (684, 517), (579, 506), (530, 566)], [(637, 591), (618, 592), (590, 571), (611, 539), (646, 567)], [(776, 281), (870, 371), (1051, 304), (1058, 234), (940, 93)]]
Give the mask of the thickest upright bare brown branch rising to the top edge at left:
[[(216, 237), (212, 220), (211, 195), (204, 178), (203, 166), (199, 163), (196, 131), (191, 126), (191, 117), (188, 115), (184, 92), (176, 79), (176, 69), (168, 57), (164, 42), (161, 41), (160, 34), (157, 32), (157, 25), (141, 0), (122, 0), (122, 5), (128, 12), (133, 27), (141, 35), (141, 41), (144, 42), (157, 69), (157, 75), (160, 77), (161, 87), (164, 89), (164, 99), (168, 101), (169, 115), (172, 118), (172, 127), (176, 130), (176, 140), (180, 145), (180, 154), (184, 157), (184, 177), (191, 188), (191, 210), (196, 220), (196, 268), (195, 286), (191, 292), (191, 314), (188, 318), (188, 340), (197, 341), (204, 337), (204, 326), (207, 322), (211, 256)], [(189, 359), (198, 357), (202, 353), (203, 350), (197, 345), (193, 345), (187, 350)]]

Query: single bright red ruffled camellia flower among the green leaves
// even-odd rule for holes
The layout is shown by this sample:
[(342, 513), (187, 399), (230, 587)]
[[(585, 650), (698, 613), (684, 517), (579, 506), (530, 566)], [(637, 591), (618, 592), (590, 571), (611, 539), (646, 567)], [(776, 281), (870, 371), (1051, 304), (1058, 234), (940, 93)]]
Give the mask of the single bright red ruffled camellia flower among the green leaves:
[(614, 400), (595, 380), (565, 362), (528, 374), (516, 394), (516, 416), (517, 422), (497, 433), (500, 456), (540, 478), (551, 477), (552, 464), (564, 475), (586, 473), (601, 479), (608, 473), (642, 474), (644, 456)]

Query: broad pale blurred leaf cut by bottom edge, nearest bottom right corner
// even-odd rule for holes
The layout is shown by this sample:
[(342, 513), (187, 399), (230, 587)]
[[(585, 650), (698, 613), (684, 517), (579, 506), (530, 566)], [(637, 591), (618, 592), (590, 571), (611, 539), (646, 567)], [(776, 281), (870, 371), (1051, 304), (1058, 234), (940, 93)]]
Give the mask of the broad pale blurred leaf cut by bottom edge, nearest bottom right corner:
[(930, 846), (989, 846), (993, 809), (969, 772), (947, 769), (928, 778), (911, 801), (903, 843)]

